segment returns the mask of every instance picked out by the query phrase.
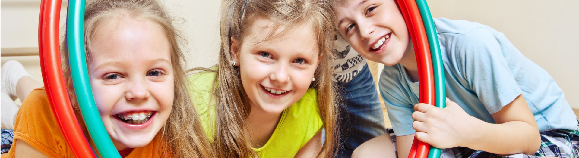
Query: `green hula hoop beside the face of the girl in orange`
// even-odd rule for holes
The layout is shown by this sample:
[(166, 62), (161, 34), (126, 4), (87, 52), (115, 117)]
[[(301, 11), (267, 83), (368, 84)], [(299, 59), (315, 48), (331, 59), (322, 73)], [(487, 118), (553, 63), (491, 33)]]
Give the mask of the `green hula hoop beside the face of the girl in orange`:
[(100, 156), (120, 158), (102, 123), (90, 87), (85, 54), (85, 4), (85, 0), (71, 0), (68, 7), (67, 42), (72, 84), (86, 127)]

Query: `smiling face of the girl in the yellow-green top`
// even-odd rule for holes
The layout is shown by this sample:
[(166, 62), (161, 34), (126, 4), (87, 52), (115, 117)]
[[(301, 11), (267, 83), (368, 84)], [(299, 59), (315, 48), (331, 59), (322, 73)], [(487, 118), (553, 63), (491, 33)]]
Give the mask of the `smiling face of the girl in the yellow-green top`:
[[(252, 112), (278, 114), (297, 102), (310, 87), (318, 65), (320, 52), (312, 26), (274, 30), (269, 27), (273, 24), (256, 19), (243, 42), (232, 38), (232, 57), (239, 63)], [(264, 41), (270, 35), (278, 36)]]

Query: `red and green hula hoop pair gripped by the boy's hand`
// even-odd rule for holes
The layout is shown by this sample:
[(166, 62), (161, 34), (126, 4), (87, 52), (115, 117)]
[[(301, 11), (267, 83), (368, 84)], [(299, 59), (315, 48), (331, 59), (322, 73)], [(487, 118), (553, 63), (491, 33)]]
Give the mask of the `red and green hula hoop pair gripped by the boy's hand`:
[[(412, 44), (416, 48), (416, 63), (419, 72), (420, 102), (446, 106), (444, 67), (434, 21), (426, 0), (397, 0), (406, 21)], [(430, 149), (430, 151), (429, 151)], [(441, 149), (414, 138), (409, 158), (440, 157)]]

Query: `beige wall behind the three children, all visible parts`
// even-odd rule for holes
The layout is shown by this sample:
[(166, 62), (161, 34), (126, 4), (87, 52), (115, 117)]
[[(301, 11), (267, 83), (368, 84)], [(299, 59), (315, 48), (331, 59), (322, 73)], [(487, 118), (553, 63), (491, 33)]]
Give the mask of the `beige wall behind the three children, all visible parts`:
[[(579, 108), (579, 1), (428, 1), (434, 17), (477, 21), (504, 32), (507, 38), (530, 60), (546, 69), (567, 96)], [(36, 47), (38, 0), (1, 1), (1, 41), (5, 47)], [(181, 25), (189, 38), (188, 67), (208, 67), (217, 62), (219, 46), (218, 12), (221, 1), (166, 1), (170, 12), (185, 19)], [(66, 7), (66, 2), (63, 2)], [(63, 14), (64, 14), (63, 10)], [(38, 57), (2, 57), (17, 59), (39, 79)]]

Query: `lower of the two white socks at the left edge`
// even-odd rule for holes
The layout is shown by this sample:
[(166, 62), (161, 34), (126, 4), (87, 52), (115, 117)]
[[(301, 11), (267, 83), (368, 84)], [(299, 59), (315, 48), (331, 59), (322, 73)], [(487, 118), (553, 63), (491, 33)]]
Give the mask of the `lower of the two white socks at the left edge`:
[(18, 113), (18, 109), (20, 106), (6, 93), (1, 93), (2, 97), (0, 98), (0, 113), (2, 114), (0, 117), (0, 125), (2, 128), (14, 129), (14, 116)]

